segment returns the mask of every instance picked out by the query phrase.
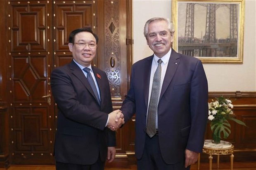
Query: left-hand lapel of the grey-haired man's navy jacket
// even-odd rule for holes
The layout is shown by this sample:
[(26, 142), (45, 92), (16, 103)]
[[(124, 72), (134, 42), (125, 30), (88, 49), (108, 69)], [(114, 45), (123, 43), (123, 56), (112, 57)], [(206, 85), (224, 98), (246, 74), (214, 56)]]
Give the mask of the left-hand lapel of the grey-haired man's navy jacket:
[(145, 104), (146, 107), (148, 105), (148, 99), (149, 99), (149, 82), (150, 82), (150, 70), (152, 67), (152, 60), (153, 60), (153, 56), (150, 56), (149, 58), (147, 58), (146, 62), (145, 62), (145, 69), (144, 69), (144, 98), (145, 98)]

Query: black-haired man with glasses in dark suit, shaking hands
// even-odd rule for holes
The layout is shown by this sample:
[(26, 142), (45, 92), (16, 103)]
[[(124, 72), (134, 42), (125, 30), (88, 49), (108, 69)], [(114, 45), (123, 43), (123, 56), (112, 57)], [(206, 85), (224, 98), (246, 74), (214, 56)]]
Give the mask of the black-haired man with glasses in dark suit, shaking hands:
[(122, 114), (112, 112), (106, 73), (91, 65), (97, 42), (92, 30), (73, 30), (69, 35), (73, 60), (52, 71), (52, 94), (59, 108), (57, 170), (104, 170), (106, 159), (111, 162), (116, 154), (115, 132), (106, 126), (117, 129), (123, 119), (115, 121)]

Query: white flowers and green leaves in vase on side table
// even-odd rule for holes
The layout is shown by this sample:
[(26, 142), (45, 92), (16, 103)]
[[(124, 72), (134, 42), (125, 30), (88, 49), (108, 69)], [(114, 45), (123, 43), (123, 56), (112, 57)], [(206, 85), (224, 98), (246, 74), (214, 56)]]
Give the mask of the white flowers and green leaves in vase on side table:
[(246, 126), (244, 122), (234, 118), (234, 112), (232, 111), (232, 101), (223, 96), (212, 100), (208, 103), (209, 116), (211, 121), (211, 131), (213, 132), (213, 142), (220, 143), (220, 139), (226, 139), (230, 133), (230, 123), (228, 120), (235, 121), (236, 123)]

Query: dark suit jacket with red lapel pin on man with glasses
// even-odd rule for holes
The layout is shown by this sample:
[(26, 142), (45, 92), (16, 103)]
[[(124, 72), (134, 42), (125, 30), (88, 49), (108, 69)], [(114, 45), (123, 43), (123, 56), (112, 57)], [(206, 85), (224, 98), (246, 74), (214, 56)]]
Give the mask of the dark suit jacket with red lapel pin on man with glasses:
[(59, 112), (55, 135), (55, 160), (90, 165), (107, 158), (107, 147), (116, 144), (115, 133), (105, 128), (112, 112), (107, 75), (92, 66), (100, 89), (101, 105), (83, 71), (72, 61), (52, 71), (52, 94)]

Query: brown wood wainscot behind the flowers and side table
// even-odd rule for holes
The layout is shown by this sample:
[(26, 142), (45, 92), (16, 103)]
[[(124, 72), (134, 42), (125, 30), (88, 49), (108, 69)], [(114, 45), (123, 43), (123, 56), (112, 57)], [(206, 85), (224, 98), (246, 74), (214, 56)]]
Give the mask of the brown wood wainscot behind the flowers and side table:
[[(218, 96), (232, 100), (236, 119), (248, 127), (230, 121), (231, 134), (226, 141), (235, 146), (234, 161), (256, 161), (256, 92), (209, 92), (209, 102)], [(206, 139), (211, 139), (211, 128), (208, 124)], [(222, 156), (222, 161), (230, 161), (229, 156)], [(202, 154), (202, 161), (208, 161), (208, 155)]]

